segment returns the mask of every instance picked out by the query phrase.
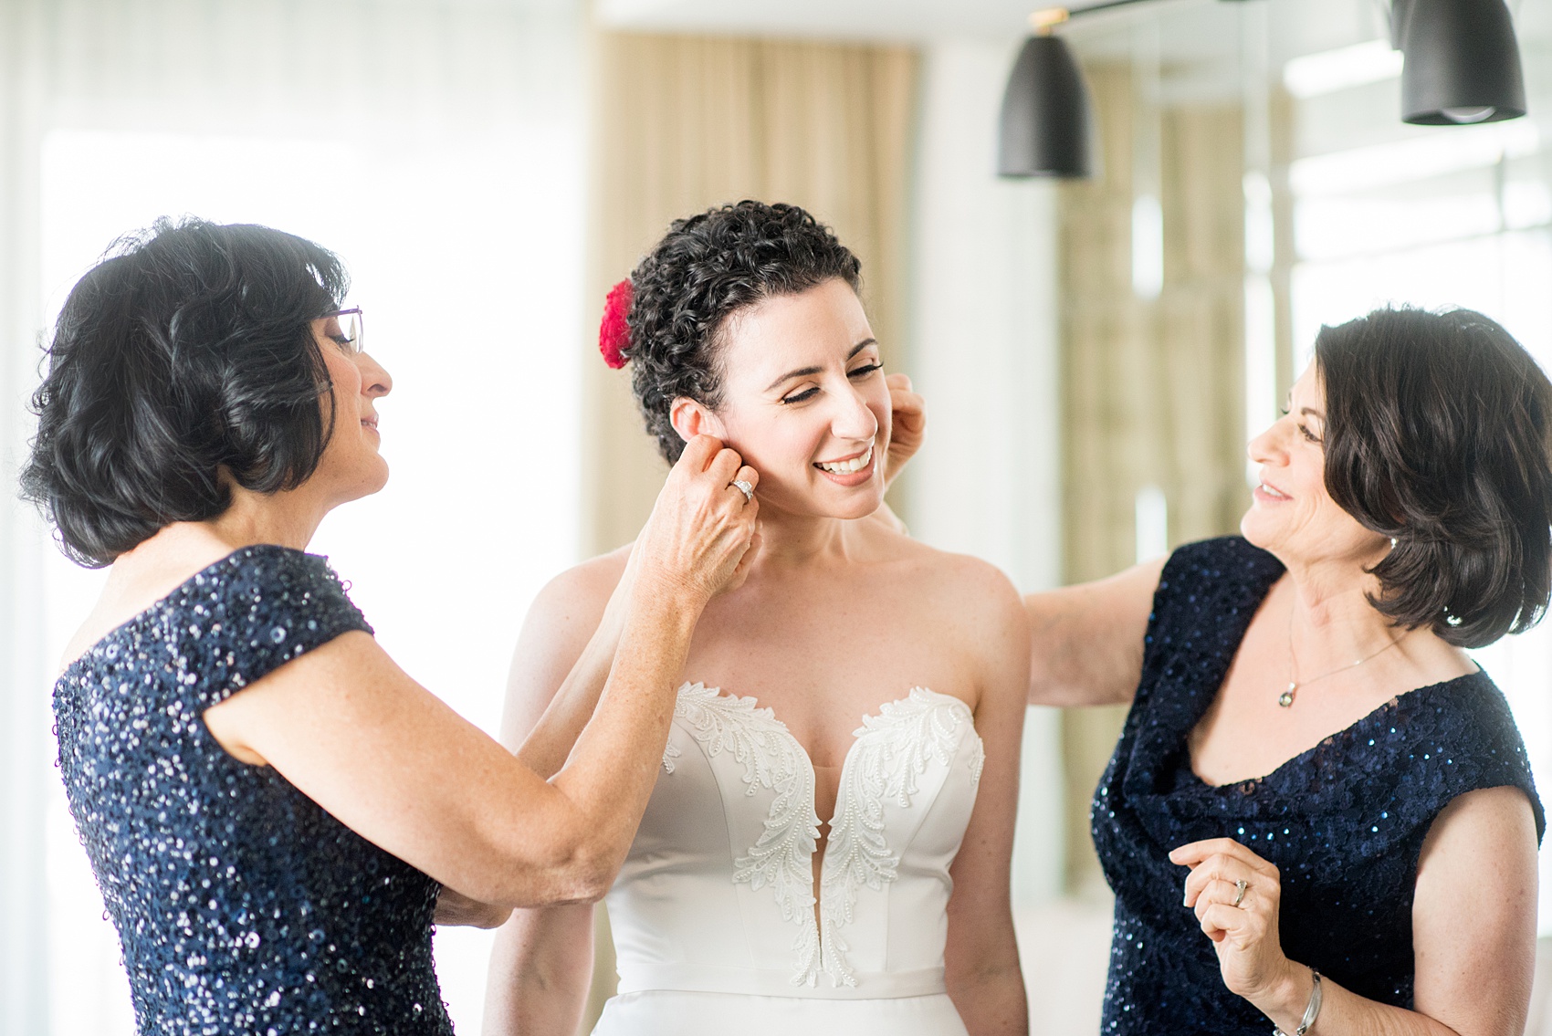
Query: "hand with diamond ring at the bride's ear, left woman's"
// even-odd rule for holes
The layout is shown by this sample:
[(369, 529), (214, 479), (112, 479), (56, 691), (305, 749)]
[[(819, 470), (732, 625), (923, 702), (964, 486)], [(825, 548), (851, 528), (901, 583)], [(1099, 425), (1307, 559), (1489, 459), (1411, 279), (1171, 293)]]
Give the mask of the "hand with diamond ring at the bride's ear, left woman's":
[(759, 547), (760, 504), (734, 479), (757, 485), (760, 476), (711, 436), (684, 445), (632, 547), (625, 592), (680, 589), (705, 605), (743, 583)]

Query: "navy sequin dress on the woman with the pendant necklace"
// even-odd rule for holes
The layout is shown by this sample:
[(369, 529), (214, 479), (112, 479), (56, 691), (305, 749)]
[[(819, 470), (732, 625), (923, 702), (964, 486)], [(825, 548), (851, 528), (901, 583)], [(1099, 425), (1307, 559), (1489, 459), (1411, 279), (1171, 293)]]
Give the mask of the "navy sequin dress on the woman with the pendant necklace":
[(1515, 786), (1544, 828), (1509, 704), (1485, 673), (1422, 687), (1259, 780), (1209, 786), (1187, 735), (1282, 565), (1242, 538), (1181, 547), (1148, 617), (1142, 682), (1094, 796), (1116, 923), (1103, 1033), (1262, 1033), (1181, 906), (1169, 850), (1234, 837), (1277, 865), (1282, 946), (1353, 993), (1412, 1005), (1412, 890), (1429, 824), (1459, 794)]

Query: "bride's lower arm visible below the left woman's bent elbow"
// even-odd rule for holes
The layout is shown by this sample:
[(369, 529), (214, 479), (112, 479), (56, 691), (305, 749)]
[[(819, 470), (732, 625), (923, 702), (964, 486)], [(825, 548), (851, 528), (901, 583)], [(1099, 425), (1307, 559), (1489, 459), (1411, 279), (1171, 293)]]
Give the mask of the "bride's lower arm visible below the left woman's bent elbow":
[(591, 906), (518, 910), (490, 948), (484, 1036), (573, 1036), (591, 979)]

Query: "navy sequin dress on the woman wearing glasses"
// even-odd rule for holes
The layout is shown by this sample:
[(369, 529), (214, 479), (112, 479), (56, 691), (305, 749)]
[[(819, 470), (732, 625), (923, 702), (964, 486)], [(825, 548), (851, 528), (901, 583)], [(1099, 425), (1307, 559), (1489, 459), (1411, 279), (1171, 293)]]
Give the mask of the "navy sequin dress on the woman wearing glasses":
[(351, 630), (371, 633), (321, 557), (255, 546), (59, 678), (59, 768), (143, 1036), (452, 1033), (431, 969), (441, 887), (202, 720)]

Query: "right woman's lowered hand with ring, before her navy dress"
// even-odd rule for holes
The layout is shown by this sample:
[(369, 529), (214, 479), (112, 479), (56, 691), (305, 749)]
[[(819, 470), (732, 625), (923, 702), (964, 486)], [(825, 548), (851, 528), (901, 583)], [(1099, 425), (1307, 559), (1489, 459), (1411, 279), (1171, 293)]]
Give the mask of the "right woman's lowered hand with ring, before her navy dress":
[[(1212, 940), (1223, 985), (1231, 993), (1259, 1003), (1287, 985), (1293, 972), (1304, 971), (1282, 952), (1277, 867), (1231, 837), (1180, 845), (1169, 858), (1190, 867), (1186, 906), (1197, 912), (1201, 931)], [(1245, 882), (1245, 895), (1234, 906), (1238, 881)]]

